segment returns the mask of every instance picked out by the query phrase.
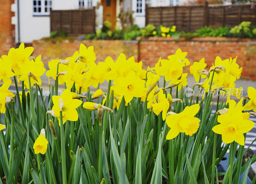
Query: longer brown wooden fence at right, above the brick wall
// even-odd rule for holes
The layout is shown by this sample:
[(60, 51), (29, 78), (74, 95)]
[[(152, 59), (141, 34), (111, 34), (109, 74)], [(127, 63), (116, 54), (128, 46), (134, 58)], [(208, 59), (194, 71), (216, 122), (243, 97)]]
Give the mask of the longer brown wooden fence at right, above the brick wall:
[(251, 21), (256, 26), (256, 10), (250, 5), (146, 6), (146, 25), (176, 25), (177, 30), (189, 32), (204, 26), (234, 27), (243, 21)]

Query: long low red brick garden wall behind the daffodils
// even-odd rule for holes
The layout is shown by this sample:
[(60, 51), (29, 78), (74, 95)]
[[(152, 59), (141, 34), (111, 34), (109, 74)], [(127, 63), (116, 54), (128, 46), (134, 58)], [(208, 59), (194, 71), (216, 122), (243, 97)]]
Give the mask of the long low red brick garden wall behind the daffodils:
[[(107, 56), (116, 59), (120, 53), (126, 57), (134, 56), (135, 60), (142, 60), (143, 67), (153, 67), (159, 57), (167, 59), (180, 48), (188, 52), (187, 58), (191, 64), (203, 57), (208, 68), (214, 63), (216, 56), (222, 60), (237, 57), (237, 64), (243, 67), (241, 78), (256, 80), (256, 40), (236, 38), (194, 38), (191, 40), (151, 37), (140, 41), (124, 40), (38, 40), (33, 42), (34, 56), (42, 55), (47, 65), (51, 59), (65, 59), (79, 50), (80, 43), (94, 46), (97, 61), (105, 60)], [(189, 66), (187, 67), (189, 71)]]

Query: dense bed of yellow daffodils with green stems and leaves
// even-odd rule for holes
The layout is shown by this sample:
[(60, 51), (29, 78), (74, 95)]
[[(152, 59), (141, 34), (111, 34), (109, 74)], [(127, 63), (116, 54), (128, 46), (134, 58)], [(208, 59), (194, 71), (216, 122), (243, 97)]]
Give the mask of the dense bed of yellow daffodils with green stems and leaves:
[[(175, 29), (161, 27), (167, 36)], [(18, 173), (25, 184), (213, 184), (223, 175), (222, 183), (238, 183), (242, 173), (246, 183), (256, 160), (242, 165), (256, 89), (243, 96), (235, 85), (239, 56), (207, 67), (177, 49), (144, 69), (124, 53), (97, 60), (81, 44), (45, 67), (33, 50), (22, 43), (0, 58), (0, 174), (8, 184)], [(229, 169), (218, 172), (228, 150)]]

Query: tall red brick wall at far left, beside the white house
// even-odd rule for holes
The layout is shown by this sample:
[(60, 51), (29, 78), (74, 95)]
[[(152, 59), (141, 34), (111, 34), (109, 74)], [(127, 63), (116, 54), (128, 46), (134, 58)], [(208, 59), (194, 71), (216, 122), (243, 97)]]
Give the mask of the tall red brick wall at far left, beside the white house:
[(14, 12), (11, 11), (11, 4), (14, 0), (1, 0), (0, 5), (0, 56), (8, 54), (10, 48), (15, 46), (14, 29), (12, 25), (12, 16)]

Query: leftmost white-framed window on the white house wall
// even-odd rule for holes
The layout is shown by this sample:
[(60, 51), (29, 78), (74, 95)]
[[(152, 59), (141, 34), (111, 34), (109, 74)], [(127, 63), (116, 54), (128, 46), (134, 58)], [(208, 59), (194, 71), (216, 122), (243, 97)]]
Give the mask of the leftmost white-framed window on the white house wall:
[(50, 15), (52, 0), (33, 0), (33, 15)]

